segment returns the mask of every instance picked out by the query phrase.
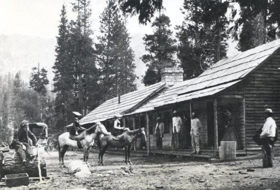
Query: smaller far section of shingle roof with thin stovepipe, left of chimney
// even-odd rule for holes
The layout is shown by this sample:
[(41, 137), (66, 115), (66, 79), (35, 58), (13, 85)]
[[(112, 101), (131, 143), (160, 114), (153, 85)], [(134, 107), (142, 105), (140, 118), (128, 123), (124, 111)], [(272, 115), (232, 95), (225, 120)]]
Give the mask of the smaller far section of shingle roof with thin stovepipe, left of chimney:
[(104, 121), (108, 118), (113, 118), (115, 114), (123, 114), (124, 112), (135, 109), (145, 102), (145, 100), (164, 88), (164, 86), (165, 83), (160, 82), (147, 86), (144, 89), (121, 95), (120, 104), (118, 104), (118, 97), (107, 100), (83, 117), (80, 120), (80, 125)]

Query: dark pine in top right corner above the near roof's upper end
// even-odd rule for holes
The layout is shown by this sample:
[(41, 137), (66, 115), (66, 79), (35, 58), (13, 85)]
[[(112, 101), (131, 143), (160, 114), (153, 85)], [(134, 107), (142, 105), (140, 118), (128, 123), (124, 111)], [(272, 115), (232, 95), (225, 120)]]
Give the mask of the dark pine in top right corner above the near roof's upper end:
[[(235, 39), (239, 40), (239, 50), (245, 51), (279, 38), (280, 1), (234, 0), (233, 2), (237, 2), (240, 6), (240, 17), (230, 31)], [(232, 18), (234, 18), (237, 10), (232, 10)]]

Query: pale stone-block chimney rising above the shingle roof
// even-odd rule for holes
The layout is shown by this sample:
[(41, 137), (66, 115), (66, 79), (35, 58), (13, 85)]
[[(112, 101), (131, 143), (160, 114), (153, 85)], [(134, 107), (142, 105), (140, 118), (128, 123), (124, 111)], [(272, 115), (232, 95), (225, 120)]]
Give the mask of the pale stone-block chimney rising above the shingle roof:
[(183, 68), (164, 67), (160, 70), (161, 81), (165, 82), (167, 86), (183, 82), (183, 72)]

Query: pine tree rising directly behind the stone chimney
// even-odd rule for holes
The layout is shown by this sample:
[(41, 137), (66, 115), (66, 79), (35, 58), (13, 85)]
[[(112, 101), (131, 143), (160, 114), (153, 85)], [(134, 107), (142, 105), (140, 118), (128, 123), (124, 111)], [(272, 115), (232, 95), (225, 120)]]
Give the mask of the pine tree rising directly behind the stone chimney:
[(162, 14), (152, 24), (153, 34), (143, 37), (145, 50), (148, 51), (148, 54), (141, 57), (148, 67), (143, 78), (145, 86), (160, 82), (160, 69), (174, 61), (176, 40), (171, 37), (173, 32), (169, 29), (170, 26), (169, 17)]

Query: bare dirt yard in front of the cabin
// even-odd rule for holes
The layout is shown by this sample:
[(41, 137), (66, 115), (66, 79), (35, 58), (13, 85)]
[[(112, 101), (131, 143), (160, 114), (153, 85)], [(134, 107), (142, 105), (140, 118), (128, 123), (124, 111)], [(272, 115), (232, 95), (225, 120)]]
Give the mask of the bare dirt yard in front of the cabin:
[[(65, 164), (82, 160), (83, 153), (68, 151)], [(77, 179), (61, 169), (58, 152), (46, 156), (50, 179), (43, 184), (29, 184), (3, 189), (280, 189), (280, 157), (273, 168), (261, 168), (262, 160), (211, 163), (189, 158), (132, 156), (132, 166), (124, 156), (104, 155), (104, 166), (97, 165), (98, 154), (90, 153), (92, 175)], [(247, 169), (253, 169), (248, 172)]]

